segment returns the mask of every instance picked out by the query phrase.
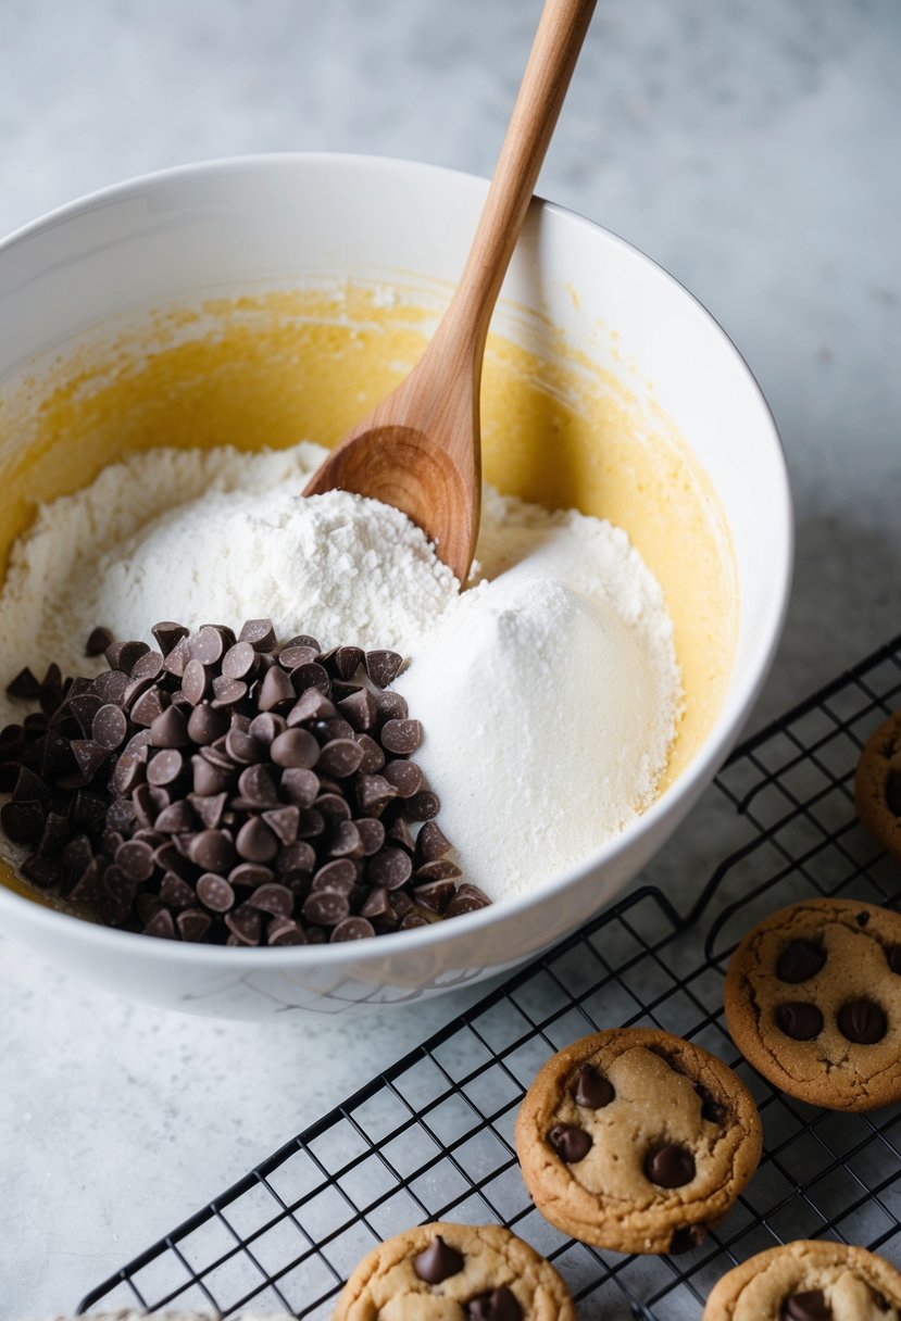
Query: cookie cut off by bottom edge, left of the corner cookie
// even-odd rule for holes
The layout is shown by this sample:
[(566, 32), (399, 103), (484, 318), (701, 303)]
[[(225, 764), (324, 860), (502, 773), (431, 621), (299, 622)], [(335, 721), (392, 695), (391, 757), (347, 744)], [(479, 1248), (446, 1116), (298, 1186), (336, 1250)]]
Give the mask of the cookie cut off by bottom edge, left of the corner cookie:
[(333, 1321), (576, 1321), (565, 1284), (499, 1225), (420, 1225), (365, 1256)]

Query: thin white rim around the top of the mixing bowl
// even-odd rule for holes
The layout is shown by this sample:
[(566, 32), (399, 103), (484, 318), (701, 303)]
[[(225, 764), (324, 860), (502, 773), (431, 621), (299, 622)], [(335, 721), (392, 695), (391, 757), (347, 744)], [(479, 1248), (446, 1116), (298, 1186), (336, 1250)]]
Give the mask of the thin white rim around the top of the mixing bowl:
[[(243, 170), (271, 170), (273, 166), (300, 166), (303, 169), (305, 165), (322, 165), (326, 168), (363, 166), (366, 169), (384, 170), (386, 173), (408, 173), (420, 177), (425, 173), (453, 180), (461, 186), (478, 186), (480, 190), (484, 192), (486, 192), (489, 186), (489, 180), (478, 174), (469, 173), (468, 170), (452, 169), (445, 165), (435, 165), (427, 161), (408, 160), (404, 157), (378, 156), (361, 152), (260, 152), (252, 155), (213, 157), (172, 165), (157, 170), (149, 170), (115, 184), (104, 185), (103, 188), (95, 189), (90, 193), (85, 193), (81, 197), (65, 202), (61, 206), (28, 221), (25, 225), (18, 226), (5, 238), (0, 239), (0, 256), (13, 248), (22, 239), (28, 239), (32, 235), (50, 230), (77, 215), (96, 209), (98, 206), (103, 206), (104, 203), (123, 201), (128, 197), (128, 194), (137, 193), (141, 189), (159, 188), (160, 185), (165, 185), (169, 181), (182, 177), (193, 176), (202, 178), (203, 176), (215, 173), (227, 174)], [(201, 966), (214, 970), (227, 966), (235, 967), (235, 960), (240, 959), (244, 968), (247, 968), (250, 962), (259, 962), (262, 967), (270, 967), (273, 970), (296, 967), (299, 971), (303, 968), (312, 970), (314, 967), (334, 966), (347, 962), (349, 959), (353, 959), (355, 966), (365, 963), (374, 964), (386, 959), (396, 958), (404, 952), (411, 955), (421, 954), (429, 947), (443, 943), (448, 938), (458, 939), (466, 934), (476, 935), (481, 930), (493, 926), (495, 922), (503, 921), (506, 917), (518, 917), (526, 913), (530, 908), (540, 906), (552, 896), (560, 897), (572, 886), (584, 881), (592, 872), (597, 871), (598, 867), (616, 860), (622, 852), (630, 848), (638, 838), (647, 834), (657, 822), (678, 812), (679, 806), (684, 799), (690, 799), (690, 806), (694, 806), (692, 790), (696, 789), (699, 781), (712, 778), (717, 766), (725, 761), (729, 749), (735, 744), (735, 740), (745, 724), (766, 680), (782, 635), (789, 609), (795, 551), (794, 509), (785, 448), (769, 403), (746, 359), (736, 347), (729, 334), (724, 330), (716, 317), (694, 293), (691, 293), (690, 289), (686, 288), (686, 285), (683, 285), (663, 266), (647, 256), (647, 254), (641, 248), (637, 248), (633, 243), (629, 243), (626, 239), (606, 229), (604, 225), (600, 225), (597, 221), (592, 221), (588, 217), (584, 217), (569, 207), (561, 206), (558, 202), (548, 201), (539, 194), (532, 198), (531, 206), (538, 209), (542, 214), (558, 217), (564, 225), (573, 225), (577, 229), (589, 230), (591, 232), (597, 234), (604, 242), (621, 248), (631, 259), (637, 259), (639, 264), (645, 266), (651, 275), (670, 284), (686, 299), (688, 299), (690, 303), (695, 305), (695, 310), (700, 312), (702, 317), (713, 329), (724, 351), (731, 354), (744, 370), (744, 375), (752, 388), (752, 395), (756, 395), (757, 404), (761, 408), (761, 421), (764, 429), (769, 433), (768, 439), (772, 449), (770, 457), (773, 461), (774, 476), (777, 478), (768, 514), (770, 526), (775, 530), (777, 536), (783, 542), (783, 555), (779, 563), (779, 575), (770, 583), (773, 602), (772, 609), (765, 621), (765, 627), (758, 631), (754, 639), (752, 657), (748, 662), (748, 668), (754, 671), (753, 682), (749, 683), (740, 694), (729, 695), (727, 692), (713, 725), (692, 761), (684, 768), (678, 779), (668, 785), (663, 793), (654, 799), (650, 807), (647, 807), (635, 820), (629, 822), (629, 824), (625, 826), (618, 835), (602, 844), (577, 867), (548, 878), (548, 881), (543, 882), (538, 889), (527, 894), (497, 900), (487, 908), (480, 909), (474, 913), (461, 914), (460, 917), (453, 918), (449, 926), (444, 922), (433, 922), (424, 927), (414, 927), (408, 931), (395, 931), (362, 942), (351, 941), (324, 945), (293, 945), (283, 946), (280, 948), (272, 948), (271, 946), (215, 946), (181, 941), (147, 939), (140, 931), (122, 931), (116, 927), (102, 926), (100, 923), (75, 917), (74, 914), (66, 913), (61, 909), (50, 908), (40, 901), (36, 902), (26, 896), (11, 890), (3, 884), (0, 884), (0, 915), (4, 910), (13, 914), (18, 913), (26, 922), (33, 922), (37, 927), (45, 929), (50, 933), (65, 934), (65, 931), (69, 931), (73, 934), (78, 930), (79, 934), (74, 938), (83, 941), (86, 946), (92, 946), (96, 950), (104, 950), (114, 954), (132, 954), (140, 958), (147, 958), (155, 963), (165, 963), (172, 958), (182, 963), (196, 963), (199, 960)], [(610, 902), (613, 902), (613, 900)]]

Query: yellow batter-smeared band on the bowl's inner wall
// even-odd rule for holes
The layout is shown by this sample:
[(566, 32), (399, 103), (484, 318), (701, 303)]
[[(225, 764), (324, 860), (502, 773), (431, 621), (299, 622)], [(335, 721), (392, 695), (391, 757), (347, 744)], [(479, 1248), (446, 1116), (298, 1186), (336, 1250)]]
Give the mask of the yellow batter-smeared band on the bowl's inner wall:
[[(444, 301), (427, 283), (320, 281), (132, 313), (33, 359), (3, 387), (1, 563), (36, 502), (127, 453), (333, 445), (410, 371)], [(503, 308), (495, 324), (482, 384), (487, 481), (624, 527), (666, 594), (686, 690), (668, 783), (707, 737), (735, 655), (721, 507), (661, 410), (584, 345), (524, 308)]]

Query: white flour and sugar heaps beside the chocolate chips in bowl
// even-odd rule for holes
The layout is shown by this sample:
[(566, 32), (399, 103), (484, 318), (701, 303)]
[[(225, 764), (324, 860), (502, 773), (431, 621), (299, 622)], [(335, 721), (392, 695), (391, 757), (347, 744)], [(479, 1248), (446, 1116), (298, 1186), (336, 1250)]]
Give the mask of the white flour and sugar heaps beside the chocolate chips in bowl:
[(396, 651), (387, 691), (421, 721), (448, 860), (490, 900), (534, 890), (654, 799), (680, 708), (661, 589), (609, 523), (487, 487), (461, 593), (396, 510), (304, 501), (322, 454), (157, 449), (42, 507), (0, 597), (0, 674), (41, 658), (91, 676), (95, 625), (151, 642), (164, 618), (197, 631), (268, 616), (281, 639)]

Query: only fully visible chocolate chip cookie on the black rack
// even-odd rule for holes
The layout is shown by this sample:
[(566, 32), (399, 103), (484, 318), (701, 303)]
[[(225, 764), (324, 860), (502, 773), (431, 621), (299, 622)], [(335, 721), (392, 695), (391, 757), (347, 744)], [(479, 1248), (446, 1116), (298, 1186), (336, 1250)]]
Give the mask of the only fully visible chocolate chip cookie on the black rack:
[(546, 1219), (617, 1252), (680, 1252), (760, 1160), (750, 1092), (721, 1059), (654, 1028), (596, 1032), (528, 1089), (517, 1151)]

